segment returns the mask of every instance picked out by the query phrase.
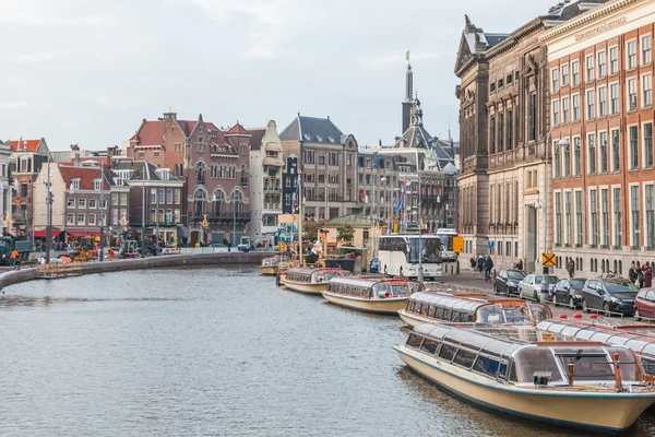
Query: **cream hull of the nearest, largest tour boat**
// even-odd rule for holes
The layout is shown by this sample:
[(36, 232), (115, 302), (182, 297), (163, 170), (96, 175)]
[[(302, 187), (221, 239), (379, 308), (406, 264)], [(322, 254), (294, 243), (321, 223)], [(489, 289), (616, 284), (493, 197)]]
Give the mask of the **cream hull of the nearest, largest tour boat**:
[(655, 393), (510, 388), (404, 345), (394, 349), (413, 371), (467, 402), (550, 425), (619, 432), (655, 402)]

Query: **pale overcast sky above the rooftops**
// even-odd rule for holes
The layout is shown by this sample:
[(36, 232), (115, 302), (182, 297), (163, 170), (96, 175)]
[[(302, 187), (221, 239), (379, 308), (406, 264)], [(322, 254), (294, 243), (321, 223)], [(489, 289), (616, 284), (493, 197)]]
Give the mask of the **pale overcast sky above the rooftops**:
[(425, 126), (458, 138), (464, 13), (511, 32), (556, 1), (0, 0), (0, 139), (104, 149), (168, 108), (218, 127), (330, 116), (360, 145), (401, 130), (404, 54)]

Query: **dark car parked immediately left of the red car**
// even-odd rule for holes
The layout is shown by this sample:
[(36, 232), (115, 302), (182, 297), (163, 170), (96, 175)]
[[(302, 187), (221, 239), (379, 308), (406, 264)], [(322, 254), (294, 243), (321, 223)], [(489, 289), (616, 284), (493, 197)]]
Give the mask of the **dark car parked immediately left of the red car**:
[(585, 312), (598, 309), (607, 315), (632, 316), (636, 292), (636, 287), (624, 277), (586, 280), (581, 293), (582, 309)]

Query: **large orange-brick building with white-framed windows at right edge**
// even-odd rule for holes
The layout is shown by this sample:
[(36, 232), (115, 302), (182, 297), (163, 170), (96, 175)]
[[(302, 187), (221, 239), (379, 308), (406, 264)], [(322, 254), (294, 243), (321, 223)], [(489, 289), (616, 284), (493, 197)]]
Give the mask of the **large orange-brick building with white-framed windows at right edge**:
[(655, 2), (612, 0), (540, 37), (555, 252), (559, 268), (572, 258), (580, 275), (655, 260), (654, 23)]

